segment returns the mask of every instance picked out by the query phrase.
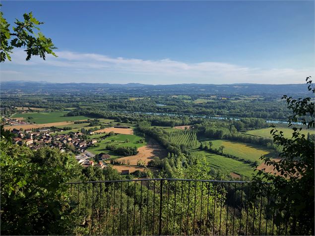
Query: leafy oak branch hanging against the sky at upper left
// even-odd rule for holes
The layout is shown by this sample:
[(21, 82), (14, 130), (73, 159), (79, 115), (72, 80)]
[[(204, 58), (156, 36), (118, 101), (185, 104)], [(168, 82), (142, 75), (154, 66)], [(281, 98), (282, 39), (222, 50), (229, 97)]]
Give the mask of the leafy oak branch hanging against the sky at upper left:
[[(10, 24), (3, 18), (3, 13), (0, 11), (0, 62), (6, 59), (11, 60), (10, 54), (14, 48), (25, 48), (27, 54), (26, 60), (32, 56), (40, 56), (46, 59), (46, 54), (57, 55), (53, 52), (57, 49), (50, 38), (46, 38), (40, 31), (38, 25), (44, 22), (38, 21), (33, 17), (33, 13), (23, 14), (23, 21), (15, 19), (15, 27), (12, 31), (9, 29)], [(37, 32), (34, 32), (37, 31)], [(11, 40), (9, 42), (9, 40)]]

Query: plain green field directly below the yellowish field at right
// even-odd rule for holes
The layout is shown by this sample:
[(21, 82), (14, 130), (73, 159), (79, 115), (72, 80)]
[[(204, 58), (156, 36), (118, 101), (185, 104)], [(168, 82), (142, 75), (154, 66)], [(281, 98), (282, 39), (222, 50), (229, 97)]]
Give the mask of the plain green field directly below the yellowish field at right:
[(220, 170), (227, 174), (235, 173), (246, 177), (252, 176), (253, 168), (249, 164), (201, 150), (193, 150), (191, 154), (193, 156), (205, 156), (207, 162), (215, 170)]

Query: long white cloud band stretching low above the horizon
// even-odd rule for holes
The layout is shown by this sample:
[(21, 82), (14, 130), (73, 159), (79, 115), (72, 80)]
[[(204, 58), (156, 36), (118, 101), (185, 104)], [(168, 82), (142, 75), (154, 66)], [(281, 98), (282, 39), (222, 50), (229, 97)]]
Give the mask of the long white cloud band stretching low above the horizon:
[[(65, 74), (69, 75), (67, 76), (68, 79), (71, 79), (71, 73), (84, 71), (86, 73), (83, 74), (88, 73), (86, 79), (94, 78), (95, 81), (90, 82), (113, 82), (115, 74), (119, 78), (124, 78), (124, 75), (127, 74), (128, 77), (124, 80), (125, 82), (152, 84), (301, 83), (306, 76), (314, 75), (314, 69), (311, 68), (263, 69), (214, 61), (186, 63), (172, 59), (126, 59), (122, 57), (112, 58), (100, 54), (75, 53), (69, 51), (59, 51), (57, 55), (58, 58), (49, 55), (45, 61), (38, 57), (33, 57), (30, 61), (25, 61), (25, 52), (18, 50), (12, 54), (12, 62), (5, 62), (3, 65), (6, 63), (14, 66), (28, 65), (28, 67), (41, 69), (41, 73), (45, 72), (45, 69), (49, 67), (55, 69), (59, 67), (60, 70), (65, 71)], [(80, 75), (81, 80), (84, 80), (83, 74)], [(111, 75), (111, 81), (105, 81), (104, 79), (108, 74)], [(142, 76), (140, 80), (139, 75)], [(147, 81), (143, 81), (143, 76), (147, 76)], [(51, 78), (52, 76), (49, 75), (49, 77)], [(72, 78), (73, 77), (72, 75)], [(43, 76), (41, 76), (41, 80), (42, 79)]]

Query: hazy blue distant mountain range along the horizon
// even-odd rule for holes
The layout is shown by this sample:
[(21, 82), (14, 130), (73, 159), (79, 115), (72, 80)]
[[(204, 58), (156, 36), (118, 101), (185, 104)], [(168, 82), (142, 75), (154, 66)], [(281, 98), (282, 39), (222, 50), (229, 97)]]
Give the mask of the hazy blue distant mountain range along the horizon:
[(49, 83), (32, 81), (6, 81), (0, 83), (2, 94), (51, 94), (51, 93), (99, 93), (99, 94), (134, 94), (134, 95), (191, 95), (191, 94), (240, 94), (240, 95), (305, 95), (306, 84), (171, 84), (149, 85), (139, 83)]

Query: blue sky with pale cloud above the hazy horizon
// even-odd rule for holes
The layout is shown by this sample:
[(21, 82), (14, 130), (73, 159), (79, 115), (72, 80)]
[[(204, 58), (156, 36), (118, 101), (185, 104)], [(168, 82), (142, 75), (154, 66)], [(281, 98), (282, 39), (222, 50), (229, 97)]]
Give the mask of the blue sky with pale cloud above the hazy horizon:
[(0, 64), (1, 81), (304, 83), (314, 76), (315, 2), (2, 0), (14, 26), (25, 12), (58, 48)]

